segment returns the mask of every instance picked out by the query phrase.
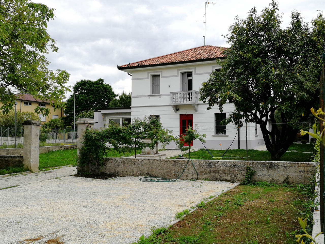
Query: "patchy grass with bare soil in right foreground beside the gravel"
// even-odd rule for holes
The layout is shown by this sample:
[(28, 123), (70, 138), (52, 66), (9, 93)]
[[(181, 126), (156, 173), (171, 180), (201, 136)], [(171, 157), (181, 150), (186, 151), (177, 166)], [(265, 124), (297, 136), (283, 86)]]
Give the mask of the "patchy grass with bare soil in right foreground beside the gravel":
[(296, 230), (301, 229), (298, 210), (304, 209), (307, 199), (290, 186), (239, 185), (168, 229), (153, 230), (151, 236), (142, 236), (136, 243), (293, 244)]

